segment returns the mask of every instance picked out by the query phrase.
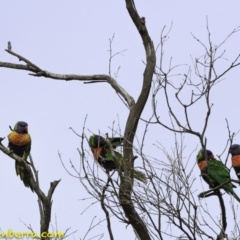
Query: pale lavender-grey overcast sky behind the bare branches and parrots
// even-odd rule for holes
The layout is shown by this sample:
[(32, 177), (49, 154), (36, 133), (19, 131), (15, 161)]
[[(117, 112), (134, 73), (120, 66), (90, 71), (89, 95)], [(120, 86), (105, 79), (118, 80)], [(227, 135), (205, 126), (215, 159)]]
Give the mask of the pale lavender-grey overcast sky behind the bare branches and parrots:
[[(193, 58), (204, 54), (203, 47), (193, 39), (191, 33), (207, 43), (206, 16), (211, 37), (219, 44), (240, 25), (240, 2), (228, 1), (135, 1), (139, 15), (146, 18), (149, 34), (155, 47), (160, 33), (166, 25), (170, 28), (170, 39), (165, 47), (166, 65), (173, 57), (173, 64), (192, 64)], [(109, 38), (115, 34), (113, 52), (127, 49), (112, 62), (112, 73), (120, 66), (118, 82), (135, 99), (139, 95), (144, 71), (145, 52), (140, 36), (120, 0), (88, 1), (4, 1), (0, 7), (0, 61), (18, 63), (18, 59), (4, 50), (11, 41), (12, 50), (38, 65), (42, 69), (59, 74), (108, 74)], [(226, 68), (240, 53), (240, 32), (236, 33), (222, 48), (227, 50), (226, 60), (219, 69)], [(228, 60), (227, 60), (228, 59)], [(225, 147), (228, 133), (225, 118), (228, 118), (232, 131), (240, 129), (239, 88), (240, 69), (234, 69), (213, 91), (211, 102), (213, 112), (207, 131), (208, 146), (215, 154)], [(186, 96), (187, 97), (187, 96)], [(53, 195), (52, 224), (55, 216), (59, 231), (71, 227), (78, 230), (75, 238), (83, 237), (94, 216), (103, 219), (100, 204), (97, 203), (81, 214), (93, 200), (87, 198), (86, 190), (79, 181), (64, 170), (58, 156), (71, 171), (69, 160), (79, 167), (77, 148), (80, 139), (69, 127), (81, 133), (86, 115), (86, 134), (110, 132), (115, 121), (124, 132), (128, 109), (115, 94), (110, 85), (84, 85), (78, 81), (56, 81), (29, 76), (25, 71), (0, 68), (0, 114), (1, 137), (9, 133), (9, 125), (23, 120), (29, 124), (32, 136), (32, 150), (35, 166), (39, 170), (40, 186), (46, 193), (50, 182), (61, 179)], [(167, 116), (163, 107), (163, 117)], [(192, 114), (191, 121), (201, 130), (205, 113), (199, 105)], [(165, 111), (165, 112), (164, 112)], [(181, 112), (179, 112), (181, 115)], [(151, 115), (151, 101), (148, 101), (143, 117)], [(142, 138), (144, 124), (140, 124), (137, 137)], [(167, 150), (173, 146), (173, 134), (161, 127), (152, 126), (145, 142), (145, 152), (162, 160), (161, 152), (153, 147), (159, 141)], [(239, 135), (235, 143), (240, 143)], [(3, 141), (7, 145), (7, 140)], [(186, 137), (184, 156), (197, 146), (194, 137)], [(211, 147), (210, 147), (211, 146)], [(88, 146), (85, 148), (89, 150)], [(226, 155), (225, 155), (226, 156)], [(90, 158), (89, 158), (90, 159)], [(14, 161), (0, 153), (1, 161), (1, 204), (0, 227), (2, 231), (26, 231), (24, 223), (31, 224), (39, 232), (39, 210), (37, 196), (25, 188), (15, 174)], [(195, 154), (192, 157), (192, 166)], [(230, 166), (230, 165), (229, 165)], [(199, 170), (195, 167), (194, 189), (208, 189), (201, 185)], [(232, 176), (235, 177), (232, 172)], [(240, 195), (240, 190), (236, 192)], [(225, 194), (226, 203), (230, 197)], [(218, 210), (218, 208), (217, 208)], [(231, 220), (231, 213), (228, 215)], [(22, 221), (22, 222), (21, 222)], [(228, 225), (230, 231), (231, 224)], [(133, 239), (130, 227), (118, 224), (113, 226), (116, 240)], [(97, 227), (95, 233), (106, 233), (106, 224)], [(121, 233), (121, 234), (119, 234)], [(119, 235), (118, 235), (119, 234)], [(93, 235), (91, 235), (93, 236)], [(127, 238), (123, 238), (127, 236)], [(71, 237), (72, 238), (72, 237)], [(90, 238), (90, 236), (89, 236)], [(108, 239), (105, 234), (103, 239)]]

